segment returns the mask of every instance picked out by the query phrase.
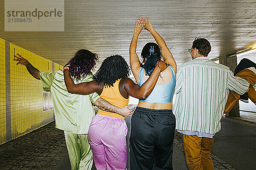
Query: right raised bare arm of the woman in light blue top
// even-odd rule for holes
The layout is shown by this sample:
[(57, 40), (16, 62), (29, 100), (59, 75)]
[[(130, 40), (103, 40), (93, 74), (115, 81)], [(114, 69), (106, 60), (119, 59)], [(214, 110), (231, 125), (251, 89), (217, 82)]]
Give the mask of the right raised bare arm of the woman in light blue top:
[(147, 16), (147, 20), (145, 20), (145, 18), (143, 18), (143, 22), (145, 23), (145, 29), (148, 30), (152, 36), (154, 37), (154, 39), (156, 40), (157, 44), (159, 45), (159, 47), (161, 48), (161, 53), (163, 56), (163, 60), (172, 66), (173, 70), (175, 71), (176, 74), (176, 70), (177, 70), (177, 65), (176, 62), (172, 56), (172, 53), (169, 51), (169, 48), (166, 45), (166, 42), (163, 40), (163, 38), (157, 33), (157, 31), (154, 30), (152, 24), (150, 23), (148, 16)]

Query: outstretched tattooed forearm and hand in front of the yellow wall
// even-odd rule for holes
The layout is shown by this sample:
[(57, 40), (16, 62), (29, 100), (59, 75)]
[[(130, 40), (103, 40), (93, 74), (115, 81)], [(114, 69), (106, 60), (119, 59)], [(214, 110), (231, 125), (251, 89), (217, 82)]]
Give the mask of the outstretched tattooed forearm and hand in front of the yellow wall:
[(33, 67), (33, 65), (31, 65), (29, 62), (28, 62), (28, 60), (26, 60), (26, 59), (24, 59), (22, 56), (20, 56), (19, 54), (17, 54), (19, 57), (17, 57), (17, 56), (14, 56), (15, 57), (15, 61), (18, 61), (17, 62), (17, 65), (18, 64), (21, 64), (21, 65), (25, 65), (26, 66), (26, 68), (27, 68), (27, 70), (29, 71), (29, 73), (33, 76), (33, 77), (35, 77), (36, 79), (40, 79), (40, 77), (39, 77), (39, 70), (38, 69), (36, 69), (35, 67)]

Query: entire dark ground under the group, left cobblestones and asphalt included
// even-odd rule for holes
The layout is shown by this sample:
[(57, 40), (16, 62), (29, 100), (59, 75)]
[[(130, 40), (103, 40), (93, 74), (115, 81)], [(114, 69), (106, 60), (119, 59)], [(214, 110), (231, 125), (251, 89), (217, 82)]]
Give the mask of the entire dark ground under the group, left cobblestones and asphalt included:
[[(130, 119), (126, 119), (128, 128)], [(70, 170), (64, 133), (52, 122), (0, 145), (0, 170)], [(128, 140), (128, 136), (127, 136)], [(215, 170), (256, 170), (256, 123), (239, 118), (221, 120), (214, 136)], [(128, 142), (127, 142), (128, 143)], [(187, 170), (182, 135), (175, 132), (174, 170)], [(128, 166), (129, 170), (129, 154)], [(95, 170), (95, 167), (93, 167)]]

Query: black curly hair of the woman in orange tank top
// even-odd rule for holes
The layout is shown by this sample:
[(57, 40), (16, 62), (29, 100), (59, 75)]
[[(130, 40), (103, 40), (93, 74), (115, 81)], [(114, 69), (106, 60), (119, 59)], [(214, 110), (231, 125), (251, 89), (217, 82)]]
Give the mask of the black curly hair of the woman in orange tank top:
[(99, 84), (104, 83), (105, 87), (113, 86), (118, 79), (128, 78), (131, 68), (122, 56), (110, 56), (102, 62), (99, 70), (93, 76), (93, 79)]

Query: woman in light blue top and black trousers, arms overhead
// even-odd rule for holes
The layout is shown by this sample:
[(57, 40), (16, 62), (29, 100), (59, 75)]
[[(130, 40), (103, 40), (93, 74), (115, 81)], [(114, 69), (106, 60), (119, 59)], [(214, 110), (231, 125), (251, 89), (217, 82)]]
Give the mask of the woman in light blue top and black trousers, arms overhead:
[[(141, 86), (157, 68), (155, 63), (163, 60), (169, 64), (159, 77), (157, 85), (147, 99), (140, 99), (131, 117), (130, 154), (131, 170), (152, 170), (153, 164), (161, 170), (172, 170), (172, 145), (175, 116), (172, 98), (176, 82), (176, 62), (166, 42), (154, 30), (148, 17), (135, 21), (134, 35), (130, 45), (132, 73)], [(157, 44), (148, 42), (141, 51), (142, 63), (136, 53), (137, 40), (143, 29), (150, 32)], [(159, 45), (159, 46), (158, 46)], [(150, 76), (150, 77), (149, 77)]]

